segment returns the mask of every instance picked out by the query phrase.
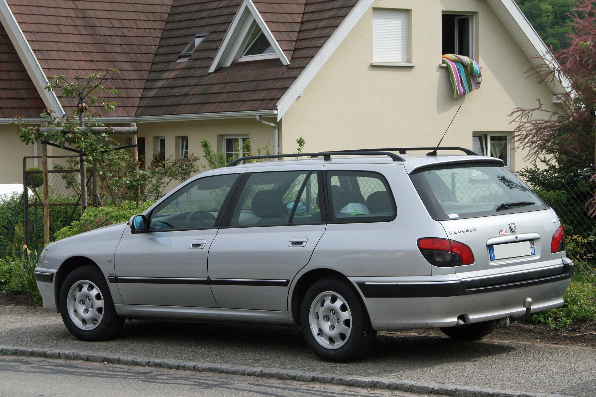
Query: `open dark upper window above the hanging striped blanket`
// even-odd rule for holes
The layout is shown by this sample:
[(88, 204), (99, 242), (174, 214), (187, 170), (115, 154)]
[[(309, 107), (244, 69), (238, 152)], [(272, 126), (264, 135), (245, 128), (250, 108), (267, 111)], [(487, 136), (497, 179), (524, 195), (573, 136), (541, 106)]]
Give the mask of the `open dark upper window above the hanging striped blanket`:
[(442, 54), (465, 55), (476, 59), (474, 54), (474, 14), (443, 12)]

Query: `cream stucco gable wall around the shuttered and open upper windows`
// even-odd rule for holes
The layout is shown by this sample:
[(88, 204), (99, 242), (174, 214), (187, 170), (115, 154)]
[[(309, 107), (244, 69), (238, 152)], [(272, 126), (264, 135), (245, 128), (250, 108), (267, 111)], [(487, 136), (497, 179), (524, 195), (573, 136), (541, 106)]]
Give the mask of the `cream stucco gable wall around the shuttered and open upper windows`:
[[(442, 146), (471, 148), (473, 132), (513, 130), (516, 107), (548, 108), (552, 92), (525, 74), (530, 62), (484, 0), (377, 0), (373, 7), (411, 10), (414, 67), (372, 66), (373, 8), (356, 24), (283, 116), (283, 152), (303, 136), (306, 151), (395, 146), (434, 146), (457, 108)], [(441, 61), (443, 11), (474, 12), (477, 60), (483, 82), (454, 99)], [(523, 166), (517, 152), (513, 168)]]

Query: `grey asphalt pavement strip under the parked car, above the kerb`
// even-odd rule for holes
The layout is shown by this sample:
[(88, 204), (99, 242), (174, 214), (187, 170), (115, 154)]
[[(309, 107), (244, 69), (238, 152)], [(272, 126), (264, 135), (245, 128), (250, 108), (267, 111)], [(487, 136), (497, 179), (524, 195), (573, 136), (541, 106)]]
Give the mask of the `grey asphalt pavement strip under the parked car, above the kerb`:
[(571, 346), (396, 333), (378, 336), (363, 360), (334, 364), (313, 355), (296, 327), (127, 321), (115, 339), (82, 342), (70, 335), (60, 315), (10, 306), (0, 306), (0, 345), (596, 396), (596, 349)]

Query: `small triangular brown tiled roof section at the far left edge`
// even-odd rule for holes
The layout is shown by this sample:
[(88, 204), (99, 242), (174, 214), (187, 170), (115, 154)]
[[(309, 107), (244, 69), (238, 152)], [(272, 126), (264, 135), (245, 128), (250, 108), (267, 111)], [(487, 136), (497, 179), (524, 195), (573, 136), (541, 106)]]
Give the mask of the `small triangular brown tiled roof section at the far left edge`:
[(39, 117), (45, 105), (0, 25), (0, 117)]

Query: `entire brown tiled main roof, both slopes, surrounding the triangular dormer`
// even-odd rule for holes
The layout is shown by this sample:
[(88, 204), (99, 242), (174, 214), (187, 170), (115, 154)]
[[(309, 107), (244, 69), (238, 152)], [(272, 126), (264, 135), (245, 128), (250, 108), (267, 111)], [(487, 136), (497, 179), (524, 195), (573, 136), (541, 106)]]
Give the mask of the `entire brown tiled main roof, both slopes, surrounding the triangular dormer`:
[[(254, 0), (290, 65), (237, 62), (207, 73), (241, 2), (8, 0), (46, 75), (120, 70), (115, 116), (274, 109), (358, 0)], [(203, 32), (190, 60), (176, 62)], [(76, 105), (60, 101), (67, 111)]]

